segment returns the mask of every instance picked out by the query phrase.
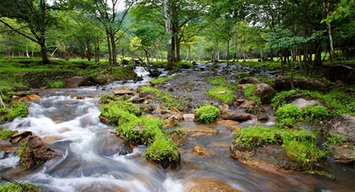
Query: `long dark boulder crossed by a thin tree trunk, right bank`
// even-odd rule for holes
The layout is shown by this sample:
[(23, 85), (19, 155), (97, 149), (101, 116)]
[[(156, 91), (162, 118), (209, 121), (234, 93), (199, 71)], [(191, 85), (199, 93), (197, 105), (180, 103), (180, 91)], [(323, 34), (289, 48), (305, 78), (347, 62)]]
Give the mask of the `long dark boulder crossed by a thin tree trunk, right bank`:
[[(310, 91), (327, 91), (327, 85), (322, 81), (310, 78), (293, 78), (295, 88), (306, 89)], [(275, 86), (273, 88), (277, 91), (288, 91), (291, 89), (290, 77), (278, 76), (275, 79)]]

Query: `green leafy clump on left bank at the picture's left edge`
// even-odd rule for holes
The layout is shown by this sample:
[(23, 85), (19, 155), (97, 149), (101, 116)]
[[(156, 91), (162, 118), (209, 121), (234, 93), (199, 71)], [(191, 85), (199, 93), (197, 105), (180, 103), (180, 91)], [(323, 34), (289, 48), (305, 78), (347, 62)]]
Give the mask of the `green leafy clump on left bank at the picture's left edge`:
[(21, 101), (13, 101), (10, 108), (0, 108), (0, 122), (8, 122), (18, 117), (27, 117), (28, 106)]

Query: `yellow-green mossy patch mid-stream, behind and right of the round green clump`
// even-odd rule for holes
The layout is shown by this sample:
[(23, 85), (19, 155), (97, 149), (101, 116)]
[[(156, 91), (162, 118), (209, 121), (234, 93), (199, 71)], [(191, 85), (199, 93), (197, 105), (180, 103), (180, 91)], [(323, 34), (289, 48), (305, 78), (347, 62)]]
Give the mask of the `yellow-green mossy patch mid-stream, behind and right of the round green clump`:
[(212, 89), (209, 89), (207, 95), (217, 98), (227, 105), (230, 105), (236, 98), (236, 94), (233, 94), (231, 89), (226, 88), (226, 86), (214, 86)]

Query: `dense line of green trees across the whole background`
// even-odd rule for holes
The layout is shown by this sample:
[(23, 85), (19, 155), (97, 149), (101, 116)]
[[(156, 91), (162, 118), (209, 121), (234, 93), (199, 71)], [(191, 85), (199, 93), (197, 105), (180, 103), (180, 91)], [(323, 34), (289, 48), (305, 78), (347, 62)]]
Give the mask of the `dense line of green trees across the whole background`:
[[(352, 0), (0, 0), (0, 52), (32, 57), (125, 56), (146, 62), (298, 60), (312, 76), (354, 57)], [(121, 55), (121, 58), (117, 58)]]

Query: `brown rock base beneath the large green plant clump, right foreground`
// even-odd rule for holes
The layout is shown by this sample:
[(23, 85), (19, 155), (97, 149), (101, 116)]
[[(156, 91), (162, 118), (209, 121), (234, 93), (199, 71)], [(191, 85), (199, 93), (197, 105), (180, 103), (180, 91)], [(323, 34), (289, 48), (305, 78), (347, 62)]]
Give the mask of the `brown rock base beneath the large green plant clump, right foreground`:
[(231, 142), (229, 153), (231, 154), (231, 157), (243, 164), (281, 171), (302, 170), (302, 164), (297, 164), (288, 159), (285, 149), (280, 145), (258, 147), (251, 152), (239, 151), (237, 146), (235, 141)]

